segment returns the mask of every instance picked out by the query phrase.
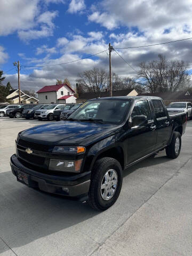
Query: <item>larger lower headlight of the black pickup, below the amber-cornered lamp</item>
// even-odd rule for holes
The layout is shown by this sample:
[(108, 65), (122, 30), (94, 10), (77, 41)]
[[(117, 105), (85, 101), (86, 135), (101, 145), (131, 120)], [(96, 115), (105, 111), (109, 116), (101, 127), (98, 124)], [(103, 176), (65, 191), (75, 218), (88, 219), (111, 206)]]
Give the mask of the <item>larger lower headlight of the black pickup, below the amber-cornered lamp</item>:
[(80, 172), (83, 159), (50, 159), (49, 170), (60, 172)]

